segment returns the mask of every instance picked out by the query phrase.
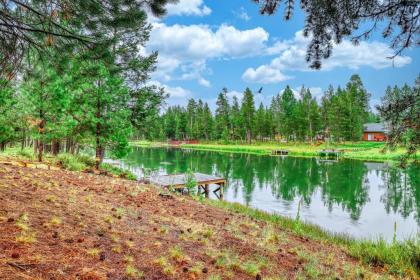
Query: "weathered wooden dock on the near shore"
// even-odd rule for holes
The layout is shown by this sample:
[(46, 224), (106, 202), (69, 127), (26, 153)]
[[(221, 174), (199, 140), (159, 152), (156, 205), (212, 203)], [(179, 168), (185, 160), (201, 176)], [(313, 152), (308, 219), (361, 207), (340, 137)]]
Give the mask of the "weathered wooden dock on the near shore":
[[(197, 188), (199, 193), (204, 193), (208, 198), (210, 193), (210, 185), (215, 185), (216, 189), (213, 190), (213, 193), (219, 198), (223, 199), (223, 189), (226, 185), (226, 179), (203, 174), (203, 173), (193, 173), (195, 181), (197, 182)], [(173, 175), (158, 175), (156, 177), (150, 178), (150, 183), (160, 186), (162, 188), (174, 188), (175, 190), (182, 190), (186, 185), (186, 175), (185, 174), (173, 174)]]

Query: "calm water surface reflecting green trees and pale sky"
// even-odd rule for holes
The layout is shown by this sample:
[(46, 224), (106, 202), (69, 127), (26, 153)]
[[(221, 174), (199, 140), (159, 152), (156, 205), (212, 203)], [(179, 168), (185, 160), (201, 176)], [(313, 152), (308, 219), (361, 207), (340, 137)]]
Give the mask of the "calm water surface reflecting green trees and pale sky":
[(415, 236), (420, 225), (420, 167), (384, 163), (271, 157), (175, 148), (134, 148), (120, 164), (140, 175), (195, 172), (228, 180), (225, 200), (300, 217), (356, 238)]

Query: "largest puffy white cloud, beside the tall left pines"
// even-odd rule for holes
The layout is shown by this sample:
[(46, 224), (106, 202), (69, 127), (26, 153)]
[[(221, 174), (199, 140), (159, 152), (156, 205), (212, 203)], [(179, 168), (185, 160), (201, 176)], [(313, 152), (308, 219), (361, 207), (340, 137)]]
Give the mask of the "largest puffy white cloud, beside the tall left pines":
[(155, 79), (192, 80), (203, 86), (210, 82), (203, 78), (209, 72), (209, 59), (233, 59), (255, 56), (265, 52), (269, 34), (260, 27), (238, 30), (221, 25), (213, 30), (208, 25), (171, 25), (153, 23), (146, 53), (159, 51)]

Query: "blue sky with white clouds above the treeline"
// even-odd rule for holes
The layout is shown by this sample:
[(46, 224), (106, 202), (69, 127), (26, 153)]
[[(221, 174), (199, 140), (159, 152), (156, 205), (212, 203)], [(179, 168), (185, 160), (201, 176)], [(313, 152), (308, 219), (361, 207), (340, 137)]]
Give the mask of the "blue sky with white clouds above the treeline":
[(320, 98), (328, 85), (345, 86), (352, 74), (362, 77), (374, 105), (387, 85), (412, 85), (420, 73), (419, 49), (394, 61), (386, 58), (393, 50), (380, 37), (381, 29), (358, 47), (348, 40), (335, 46), (322, 70), (314, 71), (304, 61), (308, 39), (298, 9), (290, 21), (281, 10), (261, 16), (251, 0), (180, 0), (168, 11), (162, 19), (150, 19), (153, 30), (144, 50), (159, 51), (151, 83), (166, 88), (168, 105), (201, 98), (214, 108), (223, 87), (239, 98), (246, 87), (254, 92), (263, 87), (255, 99), (267, 105), (286, 85), (296, 91), (304, 85)]

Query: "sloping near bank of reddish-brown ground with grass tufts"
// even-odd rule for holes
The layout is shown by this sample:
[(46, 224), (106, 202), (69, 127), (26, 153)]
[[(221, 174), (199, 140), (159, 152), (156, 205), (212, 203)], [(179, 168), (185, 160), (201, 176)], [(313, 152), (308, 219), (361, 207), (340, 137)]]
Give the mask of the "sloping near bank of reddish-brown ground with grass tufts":
[(0, 175), (2, 279), (62, 271), (82, 279), (375, 279), (419, 273), (415, 240), (354, 241), (296, 219), (198, 197), (161, 196), (155, 188), (107, 176), (4, 164)]

